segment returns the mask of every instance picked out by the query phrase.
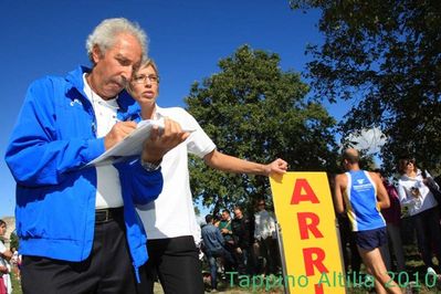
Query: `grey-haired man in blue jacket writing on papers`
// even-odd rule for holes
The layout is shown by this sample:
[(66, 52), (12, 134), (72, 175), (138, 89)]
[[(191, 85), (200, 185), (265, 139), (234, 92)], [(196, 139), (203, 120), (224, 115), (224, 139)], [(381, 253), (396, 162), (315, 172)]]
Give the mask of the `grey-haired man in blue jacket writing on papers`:
[(162, 156), (189, 134), (171, 120), (139, 158), (87, 165), (136, 128), (124, 91), (146, 57), (146, 34), (126, 19), (101, 22), (86, 42), (92, 69), (30, 86), (6, 154), (17, 181), (24, 293), (136, 293), (147, 261), (135, 204), (162, 189)]

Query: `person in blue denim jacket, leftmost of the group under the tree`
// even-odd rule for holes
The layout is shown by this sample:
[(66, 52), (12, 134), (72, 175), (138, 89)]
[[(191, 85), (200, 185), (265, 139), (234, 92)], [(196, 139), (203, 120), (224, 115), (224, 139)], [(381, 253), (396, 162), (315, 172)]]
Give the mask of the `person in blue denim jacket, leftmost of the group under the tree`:
[(218, 287), (217, 274), (218, 265), (216, 262), (217, 258), (222, 258), (229, 263), (233, 263), (230, 252), (224, 248), (225, 241), (219, 229), (213, 224), (213, 217), (211, 214), (206, 216), (207, 224), (202, 228), (202, 240), (204, 253), (207, 255), (208, 262), (210, 264), (210, 276), (211, 276), (211, 288), (216, 290)]

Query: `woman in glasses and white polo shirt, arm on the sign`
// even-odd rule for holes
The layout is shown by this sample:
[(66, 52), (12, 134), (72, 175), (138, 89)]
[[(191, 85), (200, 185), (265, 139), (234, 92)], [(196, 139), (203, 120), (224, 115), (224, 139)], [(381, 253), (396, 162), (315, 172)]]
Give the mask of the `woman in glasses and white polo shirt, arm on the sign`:
[(147, 232), (150, 256), (145, 266), (146, 280), (143, 281), (147, 285), (141, 286), (141, 292), (153, 293), (156, 272), (165, 293), (203, 293), (201, 265), (195, 245), (201, 235), (190, 190), (188, 154), (203, 158), (212, 168), (237, 174), (283, 174), (287, 164), (276, 159), (269, 165), (261, 165), (224, 155), (216, 149), (214, 143), (183, 108), (159, 107), (156, 104), (159, 94), (158, 69), (151, 60), (143, 63), (134, 74), (128, 91), (141, 107), (139, 115), (132, 119), (169, 117), (179, 123), (182, 129), (193, 130), (186, 141), (164, 156), (164, 188), (158, 199), (138, 208)]

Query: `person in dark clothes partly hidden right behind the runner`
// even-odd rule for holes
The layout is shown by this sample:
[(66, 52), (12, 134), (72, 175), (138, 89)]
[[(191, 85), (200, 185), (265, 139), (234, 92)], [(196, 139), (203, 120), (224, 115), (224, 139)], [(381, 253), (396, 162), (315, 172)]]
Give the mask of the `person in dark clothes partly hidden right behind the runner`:
[[(398, 197), (397, 189), (392, 183), (388, 181), (385, 177), (385, 171), (381, 169), (376, 169), (375, 172), (380, 177), (382, 183), (385, 185), (386, 191), (389, 196), (390, 207), (381, 210), (381, 214), (386, 221), (386, 229), (389, 238), (389, 249), (392, 249), (393, 256), (397, 261), (396, 272), (401, 273), (406, 270), (405, 263), (405, 252), (402, 250), (401, 241), (401, 206), (400, 199)], [(382, 252), (381, 252), (382, 253)], [(391, 258), (389, 251), (385, 252), (385, 263), (388, 271), (391, 270)]]

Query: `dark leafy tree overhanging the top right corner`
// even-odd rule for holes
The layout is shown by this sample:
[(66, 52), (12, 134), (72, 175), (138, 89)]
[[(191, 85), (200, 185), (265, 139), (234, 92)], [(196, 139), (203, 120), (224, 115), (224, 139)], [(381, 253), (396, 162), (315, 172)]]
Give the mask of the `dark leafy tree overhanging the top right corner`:
[(382, 159), (416, 156), (428, 168), (441, 158), (441, 4), (418, 0), (291, 0), (321, 9), (323, 45), (307, 52), (316, 96), (351, 101), (343, 133), (380, 127)]

